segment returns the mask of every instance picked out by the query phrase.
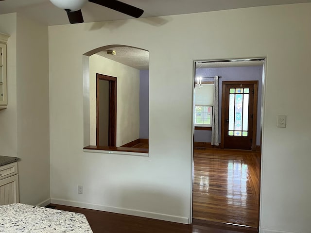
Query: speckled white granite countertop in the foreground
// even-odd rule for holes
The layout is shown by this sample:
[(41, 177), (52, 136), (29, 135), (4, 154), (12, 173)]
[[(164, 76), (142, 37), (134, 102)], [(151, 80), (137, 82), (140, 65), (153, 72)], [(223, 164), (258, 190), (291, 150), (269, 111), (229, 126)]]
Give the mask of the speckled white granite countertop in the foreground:
[(93, 233), (83, 214), (21, 203), (0, 205), (0, 232)]

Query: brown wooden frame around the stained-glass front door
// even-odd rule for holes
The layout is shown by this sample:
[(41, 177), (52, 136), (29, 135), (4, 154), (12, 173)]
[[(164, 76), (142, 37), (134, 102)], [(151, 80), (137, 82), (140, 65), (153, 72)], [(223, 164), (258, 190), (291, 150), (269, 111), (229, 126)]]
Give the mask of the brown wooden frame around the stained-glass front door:
[[(257, 141), (257, 106), (258, 106), (258, 83), (259, 81), (223, 81), (222, 90), (222, 120), (221, 120), (221, 149), (225, 149), (225, 85), (229, 84), (254, 84), (254, 106), (253, 106), (253, 141), (252, 151), (256, 151)], [(254, 140), (255, 138), (255, 140)]]

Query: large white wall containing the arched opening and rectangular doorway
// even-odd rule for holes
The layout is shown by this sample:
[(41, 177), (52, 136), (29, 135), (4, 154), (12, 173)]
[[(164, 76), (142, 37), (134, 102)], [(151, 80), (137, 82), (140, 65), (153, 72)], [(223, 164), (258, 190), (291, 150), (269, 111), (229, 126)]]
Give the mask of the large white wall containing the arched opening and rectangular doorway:
[[(267, 57), (261, 227), (310, 232), (310, 12), (304, 3), (162, 17), (158, 27), (49, 27), (52, 201), (188, 221), (193, 60)], [(150, 50), (149, 157), (82, 150), (82, 54), (109, 44)], [(278, 114), (287, 128), (276, 128)]]

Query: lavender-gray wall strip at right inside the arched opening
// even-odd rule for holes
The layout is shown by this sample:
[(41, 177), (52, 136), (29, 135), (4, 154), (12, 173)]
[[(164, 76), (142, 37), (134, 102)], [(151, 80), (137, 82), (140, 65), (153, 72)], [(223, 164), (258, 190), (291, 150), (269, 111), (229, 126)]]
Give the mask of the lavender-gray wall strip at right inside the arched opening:
[(149, 70), (139, 71), (139, 138), (149, 138)]

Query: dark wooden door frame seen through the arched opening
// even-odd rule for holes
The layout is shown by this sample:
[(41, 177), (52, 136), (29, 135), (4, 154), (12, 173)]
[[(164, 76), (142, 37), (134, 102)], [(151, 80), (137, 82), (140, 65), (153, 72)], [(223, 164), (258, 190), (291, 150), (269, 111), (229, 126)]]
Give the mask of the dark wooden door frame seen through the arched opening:
[(117, 145), (117, 77), (96, 73), (96, 146), (99, 146), (99, 81), (109, 81), (108, 146)]

